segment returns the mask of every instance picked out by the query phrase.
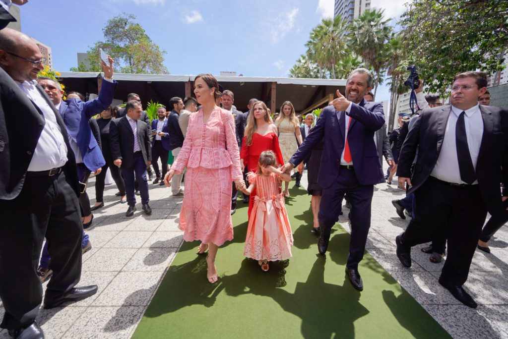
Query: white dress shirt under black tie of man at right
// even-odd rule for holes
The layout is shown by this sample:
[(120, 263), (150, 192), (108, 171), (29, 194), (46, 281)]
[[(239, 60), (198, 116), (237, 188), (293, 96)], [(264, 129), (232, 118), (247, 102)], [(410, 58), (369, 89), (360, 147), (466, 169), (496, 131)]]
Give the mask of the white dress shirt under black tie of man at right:
[[(455, 184), (465, 184), (465, 182), (460, 179), (459, 160), (457, 158), (457, 144), (455, 139), (457, 120), (462, 112), (462, 110), (452, 106), (452, 111), (450, 112), (446, 129), (444, 130), (441, 152), (430, 174), (434, 178)], [(466, 126), (467, 146), (469, 147), (473, 167), (476, 168), (483, 137), (482, 112), (480, 112), (480, 105), (473, 106), (465, 112), (464, 123)], [(473, 185), (475, 184), (478, 184), (478, 180), (473, 182)]]

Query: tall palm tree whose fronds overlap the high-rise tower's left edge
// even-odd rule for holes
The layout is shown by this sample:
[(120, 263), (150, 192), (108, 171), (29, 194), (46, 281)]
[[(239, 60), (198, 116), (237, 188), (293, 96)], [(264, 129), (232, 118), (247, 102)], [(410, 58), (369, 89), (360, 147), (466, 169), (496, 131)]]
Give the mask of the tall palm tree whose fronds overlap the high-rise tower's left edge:
[(307, 55), (311, 56), (325, 73), (328, 71), (333, 79), (336, 79), (336, 64), (346, 49), (345, 30), (346, 24), (340, 16), (325, 18), (312, 29), (309, 41), (305, 44)]

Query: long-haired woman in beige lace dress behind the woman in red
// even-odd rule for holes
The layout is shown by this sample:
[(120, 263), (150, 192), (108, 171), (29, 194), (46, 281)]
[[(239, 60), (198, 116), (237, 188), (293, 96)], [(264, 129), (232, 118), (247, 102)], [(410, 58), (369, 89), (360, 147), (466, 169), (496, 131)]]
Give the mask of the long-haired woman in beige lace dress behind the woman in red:
[[(275, 122), (279, 134), (279, 147), (282, 152), (284, 163), (295, 154), (298, 145), (302, 144), (302, 134), (300, 132), (300, 123), (295, 114), (295, 109), (291, 101), (284, 101), (280, 107), (280, 115)], [(296, 170), (296, 168), (295, 168)], [(289, 182), (285, 182), (284, 196), (289, 197)]]

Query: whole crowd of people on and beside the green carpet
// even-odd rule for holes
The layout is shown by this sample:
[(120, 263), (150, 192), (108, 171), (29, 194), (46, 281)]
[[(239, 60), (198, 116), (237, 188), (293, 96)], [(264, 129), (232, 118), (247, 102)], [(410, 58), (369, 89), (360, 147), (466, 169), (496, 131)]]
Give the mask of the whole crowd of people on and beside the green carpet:
[[(508, 184), (508, 112), (488, 106), (482, 72), (458, 74), (449, 105), (423, 96), (421, 83), (417, 98), (423, 110), (412, 118), (399, 116), (400, 128), (389, 137), (383, 105), (374, 102), (373, 78), (364, 68), (351, 72), (344, 94), (337, 90), (319, 117), (299, 119), (290, 101), (272, 117), (256, 98), (242, 113), (234, 107), (232, 91), (211, 74), (200, 74), (194, 97), (172, 97), (169, 108), (159, 107), (150, 122), (136, 93), (124, 107), (111, 106), (117, 82), (110, 57), (101, 64), (99, 96), (89, 101), (77, 92), (64, 99), (58, 81), (38, 78), (43, 62), (33, 39), (0, 30), (0, 297), (5, 308), (0, 327), (12, 336), (44, 337), (35, 321), (43, 281), (48, 281), (46, 309), (97, 292), (97, 285), (76, 284), (82, 255), (91, 248), (84, 230), (93, 226), (92, 212), (106, 207), (106, 173), (109, 169), (120, 202), (128, 205), (126, 216), (136, 211), (137, 192), (143, 212), (151, 214), (150, 166), (153, 185), (171, 187), (171, 196), (183, 198), (179, 227), (185, 241), (201, 242), (198, 253), (207, 254), (211, 284), (218, 280), (218, 247), (233, 239), (231, 215), (239, 191), (249, 204), (244, 255), (263, 271), (270, 261), (292, 256), (285, 198), (291, 174), (300, 186), (306, 166), (309, 230), (319, 236), (321, 255), (347, 200), (351, 240), (345, 272), (359, 291), (374, 185), (391, 184), (397, 175), (407, 196), (393, 205), (401, 218), (404, 211), (411, 216), (395, 240), (398, 259), (410, 267), (411, 247), (432, 242), (423, 250), (439, 262), (448, 244), (439, 283), (466, 306), (477, 306), (462, 287), (474, 250), (489, 252), (487, 242), (508, 220), (508, 199), (500, 190), (500, 184)], [(26, 116), (24, 133), (19, 133), (20, 112)], [(96, 202), (90, 206), (86, 186), (92, 173)], [(492, 218), (482, 230), (487, 213)]]

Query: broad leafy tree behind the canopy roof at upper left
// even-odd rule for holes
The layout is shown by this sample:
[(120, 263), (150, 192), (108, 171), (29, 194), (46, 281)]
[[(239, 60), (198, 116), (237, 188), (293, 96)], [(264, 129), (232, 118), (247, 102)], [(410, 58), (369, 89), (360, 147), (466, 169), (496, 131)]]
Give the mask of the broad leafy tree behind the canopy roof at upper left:
[(108, 20), (103, 33), (104, 40), (94, 43), (87, 52), (90, 62), (87, 71), (101, 71), (99, 48), (102, 48), (115, 60), (120, 73), (168, 74), (163, 64), (166, 52), (151, 41), (136, 22), (136, 16), (122, 13)]

